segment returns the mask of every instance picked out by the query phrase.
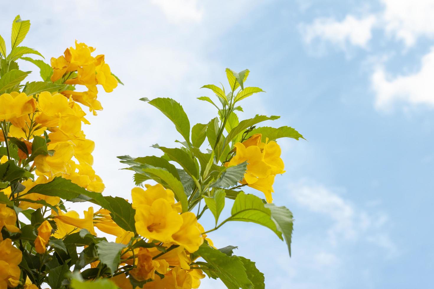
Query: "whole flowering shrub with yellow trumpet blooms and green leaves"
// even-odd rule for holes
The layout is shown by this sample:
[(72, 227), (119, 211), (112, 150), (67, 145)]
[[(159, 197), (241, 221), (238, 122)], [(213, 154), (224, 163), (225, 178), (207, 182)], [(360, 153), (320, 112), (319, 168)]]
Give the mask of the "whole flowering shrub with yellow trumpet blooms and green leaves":
[[(204, 86), (222, 104), (199, 97), (220, 117), (205, 124), (190, 127), (173, 99), (141, 99), (161, 110), (184, 140), (176, 148), (154, 145), (161, 156), (118, 157), (135, 172), (130, 202), (102, 194), (105, 185), (92, 169), (95, 143), (83, 130), (90, 123), (82, 106), (94, 115), (102, 109), (97, 85), (111, 92), (122, 82), (104, 55), (92, 56), (95, 49), (77, 41), (51, 66), (22, 57), (40, 55), (17, 46), (29, 28), (17, 16), (10, 54), (0, 45), (0, 289), (196, 289), (206, 275), (228, 288), (264, 288), (253, 261), (234, 255), (235, 246), (217, 249), (208, 237), (227, 222), (253, 222), (285, 240), (290, 252), (292, 213), (272, 204), (275, 176), (284, 172), (276, 139), (302, 136), (290, 127), (256, 127), (275, 116), (238, 120), (235, 111), (243, 110), (235, 104), (262, 92), (244, 87), (249, 71), (226, 70), (228, 94)], [(21, 85), (29, 72), (18, 69), (19, 59), (35, 63), (44, 81)], [(77, 92), (81, 85), (86, 91)], [(230, 214), (219, 221), (228, 214), (227, 199)], [(86, 201), (93, 205), (82, 214), (68, 209)], [(215, 219), (201, 219), (207, 230), (198, 221), (205, 212)]]

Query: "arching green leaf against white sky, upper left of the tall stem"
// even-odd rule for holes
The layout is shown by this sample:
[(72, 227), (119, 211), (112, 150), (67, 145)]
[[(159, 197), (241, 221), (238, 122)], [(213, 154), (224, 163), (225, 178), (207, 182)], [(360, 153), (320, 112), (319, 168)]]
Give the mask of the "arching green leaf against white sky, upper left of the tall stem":
[(171, 98), (154, 98), (149, 101), (149, 104), (157, 107), (172, 123), (176, 130), (184, 137), (187, 143), (190, 143), (190, 121), (187, 114), (184, 112), (181, 104)]

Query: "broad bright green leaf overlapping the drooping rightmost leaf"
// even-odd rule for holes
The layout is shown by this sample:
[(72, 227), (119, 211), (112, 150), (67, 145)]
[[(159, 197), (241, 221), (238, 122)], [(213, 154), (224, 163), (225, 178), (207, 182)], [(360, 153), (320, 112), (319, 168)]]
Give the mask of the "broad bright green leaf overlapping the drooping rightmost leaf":
[(282, 232), (277, 229), (273, 221), (270, 208), (267, 208), (262, 199), (255, 195), (245, 195), (240, 192), (233, 202), (229, 221), (253, 222), (263, 225), (283, 240)]

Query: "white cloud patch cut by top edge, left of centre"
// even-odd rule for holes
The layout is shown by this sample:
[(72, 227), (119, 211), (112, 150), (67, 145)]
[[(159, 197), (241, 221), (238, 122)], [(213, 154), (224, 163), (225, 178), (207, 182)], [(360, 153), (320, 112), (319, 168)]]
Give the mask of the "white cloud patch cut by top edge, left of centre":
[(197, 0), (152, 0), (151, 2), (163, 10), (169, 22), (200, 22), (202, 20), (203, 10), (197, 7)]

